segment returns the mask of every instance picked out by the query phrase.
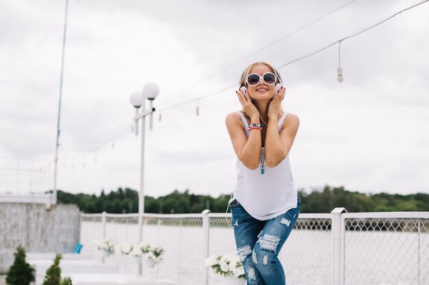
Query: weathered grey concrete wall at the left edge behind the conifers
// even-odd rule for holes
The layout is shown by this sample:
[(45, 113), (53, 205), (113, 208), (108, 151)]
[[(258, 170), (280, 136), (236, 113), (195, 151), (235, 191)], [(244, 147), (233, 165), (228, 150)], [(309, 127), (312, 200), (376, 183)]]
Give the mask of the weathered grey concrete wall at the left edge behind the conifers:
[(73, 252), (79, 242), (80, 213), (76, 205), (0, 203), (0, 273), (8, 271), (14, 251)]

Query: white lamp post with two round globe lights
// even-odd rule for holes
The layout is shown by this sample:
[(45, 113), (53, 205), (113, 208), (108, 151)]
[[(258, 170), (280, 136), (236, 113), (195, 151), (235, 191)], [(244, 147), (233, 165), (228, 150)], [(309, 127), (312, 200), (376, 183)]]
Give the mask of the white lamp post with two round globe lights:
[[(143, 86), (143, 92), (133, 92), (130, 102), (136, 109), (134, 116), (134, 129), (138, 135), (138, 120), (142, 121), (141, 128), (141, 158), (140, 158), (140, 190), (138, 192), (138, 242), (143, 241), (143, 213), (145, 213), (144, 174), (145, 174), (145, 117), (149, 115), (149, 129), (153, 128), (154, 100), (158, 96), (160, 88), (156, 83), (150, 82)], [(149, 100), (149, 108), (146, 109), (146, 99)], [(141, 108), (141, 111), (140, 111)], [(138, 274), (142, 273), (142, 260), (138, 262)]]

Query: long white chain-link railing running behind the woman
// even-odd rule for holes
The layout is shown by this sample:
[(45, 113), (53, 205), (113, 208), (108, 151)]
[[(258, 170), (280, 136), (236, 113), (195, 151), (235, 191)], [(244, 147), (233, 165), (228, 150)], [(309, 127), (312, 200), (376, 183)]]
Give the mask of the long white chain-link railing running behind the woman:
[[(429, 213), (301, 214), (279, 258), (289, 284), (429, 285)], [(138, 214), (82, 214), (84, 252), (94, 239), (137, 243)], [(177, 284), (219, 284), (204, 260), (234, 252), (231, 215), (219, 213), (143, 215), (143, 240), (165, 249), (164, 260), (144, 275)], [(123, 270), (136, 263), (115, 257)]]

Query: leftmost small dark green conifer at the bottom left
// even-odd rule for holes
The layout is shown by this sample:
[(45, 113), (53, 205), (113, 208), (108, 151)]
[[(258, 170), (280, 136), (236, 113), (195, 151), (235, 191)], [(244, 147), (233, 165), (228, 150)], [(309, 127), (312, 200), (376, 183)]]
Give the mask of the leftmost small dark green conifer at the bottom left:
[(25, 249), (19, 245), (14, 253), (15, 260), (6, 275), (6, 284), (28, 285), (35, 280), (34, 268), (25, 261)]

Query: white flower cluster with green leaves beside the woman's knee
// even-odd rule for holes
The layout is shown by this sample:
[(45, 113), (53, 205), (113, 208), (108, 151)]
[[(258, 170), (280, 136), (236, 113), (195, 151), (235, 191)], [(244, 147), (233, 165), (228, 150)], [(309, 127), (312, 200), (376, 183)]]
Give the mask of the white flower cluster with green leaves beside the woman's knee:
[(212, 273), (245, 279), (243, 263), (235, 254), (209, 256), (204, 263)]

